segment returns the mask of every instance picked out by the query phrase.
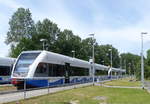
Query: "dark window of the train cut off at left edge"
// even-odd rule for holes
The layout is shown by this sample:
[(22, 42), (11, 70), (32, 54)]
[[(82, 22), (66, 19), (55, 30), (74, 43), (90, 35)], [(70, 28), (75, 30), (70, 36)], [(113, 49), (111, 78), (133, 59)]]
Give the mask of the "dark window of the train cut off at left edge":
[(9, 76), (11, 68), (9, 66), (0, 66), (0, 76)]

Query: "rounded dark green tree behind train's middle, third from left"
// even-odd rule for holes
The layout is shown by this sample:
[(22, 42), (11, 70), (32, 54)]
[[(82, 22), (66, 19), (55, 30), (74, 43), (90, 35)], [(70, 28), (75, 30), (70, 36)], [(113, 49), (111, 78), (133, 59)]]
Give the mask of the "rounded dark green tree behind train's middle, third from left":
[(81, 38), (79, 36), (75, 36), (71, 30), (65, 29), (58, 35), (56, 46), (58, 49), (58, 53), (64, 54), (67, 56), (72, 56), (72, 50), (75, 51), (76, 57), (80, 58), (79, 50), (80, 50)]

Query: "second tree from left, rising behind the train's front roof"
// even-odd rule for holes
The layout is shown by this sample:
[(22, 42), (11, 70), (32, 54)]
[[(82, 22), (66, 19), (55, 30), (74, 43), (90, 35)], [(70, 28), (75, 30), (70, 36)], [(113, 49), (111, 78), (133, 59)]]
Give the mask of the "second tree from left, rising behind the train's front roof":
[(40, 39), (46, 39), (47, 50), (58, 52), (56, 41), (57, 35), (60, 34), (60, 29), (57, 27), (57, 24), (49, 19), (44, 19), (42, 22), (38, 21), (35, 27), (37, 34), (33, 36), (33, 40), (35, 41), (35, 44), (39, 46), (38, 49), (42, 49)]

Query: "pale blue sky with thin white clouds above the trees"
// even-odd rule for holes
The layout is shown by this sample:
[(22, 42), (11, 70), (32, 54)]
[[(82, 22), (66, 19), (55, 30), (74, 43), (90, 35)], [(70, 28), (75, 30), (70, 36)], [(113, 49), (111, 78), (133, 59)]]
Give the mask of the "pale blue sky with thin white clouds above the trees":
[(0, 56), (8, 56), (4, 43), (9, 20), (19, 7), (29, 8), (35, 22), (48, 18), (82, 39), (94, 33), (96, 41), (112, 44), (120, 53), (140, 55), (150, 49), (150, 0), (0, 0)]

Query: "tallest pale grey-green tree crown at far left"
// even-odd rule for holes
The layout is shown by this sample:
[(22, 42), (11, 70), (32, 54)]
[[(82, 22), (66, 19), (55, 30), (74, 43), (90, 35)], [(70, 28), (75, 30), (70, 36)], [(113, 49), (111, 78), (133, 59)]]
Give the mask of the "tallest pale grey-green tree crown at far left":
[(9, 21), (6, 44), (18, 43), (22, 38), (35, 34), (34, 21), (29, 9), (18, 8)]

